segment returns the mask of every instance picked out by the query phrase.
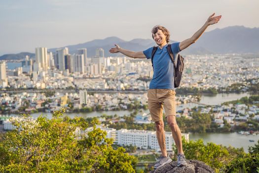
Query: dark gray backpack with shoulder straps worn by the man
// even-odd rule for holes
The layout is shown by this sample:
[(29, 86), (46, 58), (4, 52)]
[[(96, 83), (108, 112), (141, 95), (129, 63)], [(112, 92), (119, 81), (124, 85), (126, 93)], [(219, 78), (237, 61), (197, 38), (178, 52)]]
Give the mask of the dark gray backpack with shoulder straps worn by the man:
[[(155, 51), (157, 50), (157, 47), (158, 46), (154, 46), (153, 50), (152, 50), (152, 54), (151, 54), (152, 67), (153, 67), (153, 57), (154, 57)], [(184, 68), (185, 68), (185, 64), (184, 64), (185, 58), (183, 56), (181, 56), (180, 54), (178, 54), (177, 65), (175, 65), (175, 60), (174, 60), (174, 55), (173, 55), (173, 52), (172, 52), (172, 49), (171, 49), (171, 44), (168, 44), (167, 51), (168, 51), (168, 53), (171, 57), (171, 60), (173, 61), (173, 64), (174, 64), (174, 72), (175, 72), (174, 73), (174, 78), (175, 78), (174, 84), (175, 84), (175, 87), (179, 87), (181, 79), (182, 79), (182, 74), (183, 74), (183, 71), (184, 71)]]

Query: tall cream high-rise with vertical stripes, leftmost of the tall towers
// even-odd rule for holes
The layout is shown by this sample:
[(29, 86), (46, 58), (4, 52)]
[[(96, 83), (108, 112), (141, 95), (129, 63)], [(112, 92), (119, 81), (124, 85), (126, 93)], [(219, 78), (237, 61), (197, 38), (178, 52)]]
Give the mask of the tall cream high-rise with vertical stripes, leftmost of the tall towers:
[(48, 70), (48, 55), (47, 55), (47, 48), (46, 47), (36, 47), (35, 48), (35, 56), (36, 56), (36, 67), (35, 71), (40, 71), (40, 67), (43, 71)]

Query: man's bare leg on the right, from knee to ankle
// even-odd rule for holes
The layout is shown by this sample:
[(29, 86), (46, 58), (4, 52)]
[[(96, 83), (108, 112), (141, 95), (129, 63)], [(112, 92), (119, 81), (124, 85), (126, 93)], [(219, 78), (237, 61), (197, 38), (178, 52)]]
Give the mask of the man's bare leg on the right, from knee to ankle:
[(182, 145), (182, 133), (176, 123), (176, 116), (169, 115), (166, 117), (166, 120), (167, 120), (167, 124), (169, 125), (172, 131), (172, 135), (175, 140), (175, 144), (177, 146), (178, 154), (184, 154), (183, 145)]

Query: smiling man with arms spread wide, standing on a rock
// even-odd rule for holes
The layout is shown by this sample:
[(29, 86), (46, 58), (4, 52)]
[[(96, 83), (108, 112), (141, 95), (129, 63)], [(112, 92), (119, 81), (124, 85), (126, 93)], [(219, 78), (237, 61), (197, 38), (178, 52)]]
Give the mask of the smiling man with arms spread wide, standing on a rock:
[[(220, 16), (214, 16), (213, 13), (206, 21), (206, 23), (189, 39), (181, 43), (171, 44), (171, 49), (174, 57), (177, 57), (181, 50), (184, 50), (190, 44), (195, 43), (202, 33), (209, 25), (218, 23), (221, 19)], [(169, 125), (172, 135), (177, 146), (177, 165), (185, 166), (185, 155), (182, 146), (182, 134), (176, 123), (176, 108), (175, 108), (175, 87), (174, 87), (174, 65), (167, 52), (170, 33), (162, 26), (155, 26), (152, 29), (152, 38), (158, 45), (158, 48), (153, 56), (153, 78), (150, 82), (148, 90), (148, 108), (152, 121), (155, 122), (156, 136), (162, 156), (159, 157), (158, 162), (154, 168), (159, 168), (165, 164), (170, 163), (172, 160), (168, 156), (165, 145), (165, 132), (163, 123), (163, 107), (165, 109), (165, 116), (167, 124)], [(153, 47), (144, 51), (134, 52), (123, 49), (115, 44), (114, 48), (110, 49), (111, 53), (120, 52), (132, 58), (151, 58)]]

